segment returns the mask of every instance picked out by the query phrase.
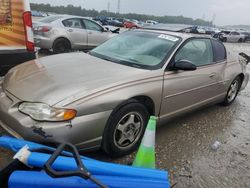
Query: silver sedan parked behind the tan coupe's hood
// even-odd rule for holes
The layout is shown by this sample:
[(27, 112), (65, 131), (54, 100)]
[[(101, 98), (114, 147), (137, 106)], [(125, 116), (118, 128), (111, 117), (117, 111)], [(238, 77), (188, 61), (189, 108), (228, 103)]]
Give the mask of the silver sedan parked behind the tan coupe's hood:
[(90, 50), (115, 36), (97, 22), (79, 16), (54, 15), (34, 22), (35, 45), (54, 53)]

